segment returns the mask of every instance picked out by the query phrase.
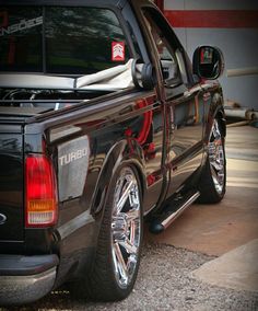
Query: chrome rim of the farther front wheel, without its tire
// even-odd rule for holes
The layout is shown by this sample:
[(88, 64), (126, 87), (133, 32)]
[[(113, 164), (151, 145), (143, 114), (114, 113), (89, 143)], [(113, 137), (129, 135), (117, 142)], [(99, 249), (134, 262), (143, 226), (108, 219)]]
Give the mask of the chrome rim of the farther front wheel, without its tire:
[(215, 119), (209, 141), (211, 176), (218, 194), (222, 194), (225, 180), (224, 148), (218, 120)]

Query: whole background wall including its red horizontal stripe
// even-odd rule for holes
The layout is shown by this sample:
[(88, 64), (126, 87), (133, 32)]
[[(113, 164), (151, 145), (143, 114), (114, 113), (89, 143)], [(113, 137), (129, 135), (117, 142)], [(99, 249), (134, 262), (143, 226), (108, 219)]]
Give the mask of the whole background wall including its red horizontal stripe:
[[(159, 3), (164, 5), (166, 18), (190, 57), (201, 44), (222, 49), (225, 72), (221, 83), (225, 100), (258, 110), (258, 1), (164, 0)], [(245, 69), (248, 74), (238, 72), (237, 77), (228, 77), (232, 69)]]

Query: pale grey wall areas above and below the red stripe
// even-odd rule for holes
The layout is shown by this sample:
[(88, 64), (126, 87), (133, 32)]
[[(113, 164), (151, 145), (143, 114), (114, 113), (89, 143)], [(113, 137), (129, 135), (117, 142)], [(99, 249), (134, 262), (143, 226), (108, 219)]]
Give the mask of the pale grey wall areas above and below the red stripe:
[[(257, 0), (165, 0), (165, 10), (258, 10)], [(228, 69), (258, 68), (258, 28), (174, 27), (189, 56), (201, 44), (220, 47), (225, 58), (221, 78), (225, 100), (258, 111), (258, 74), (226, 77)]]

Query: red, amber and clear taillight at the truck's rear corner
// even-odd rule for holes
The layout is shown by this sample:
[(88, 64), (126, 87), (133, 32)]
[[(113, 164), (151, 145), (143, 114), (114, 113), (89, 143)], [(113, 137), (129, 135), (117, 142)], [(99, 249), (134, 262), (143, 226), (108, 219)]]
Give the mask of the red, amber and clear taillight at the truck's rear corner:
[(28, 156), (25, 162), (26, 227), (49, 227), (57, 222), (57, 184), (50, 161)]

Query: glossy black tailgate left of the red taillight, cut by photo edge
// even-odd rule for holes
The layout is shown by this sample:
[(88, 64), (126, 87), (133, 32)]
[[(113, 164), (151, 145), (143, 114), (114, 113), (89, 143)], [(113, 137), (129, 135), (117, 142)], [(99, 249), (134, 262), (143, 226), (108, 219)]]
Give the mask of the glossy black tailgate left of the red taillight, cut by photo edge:
[(0, 242), (23, 239), (23, 129), (0, 124)]

